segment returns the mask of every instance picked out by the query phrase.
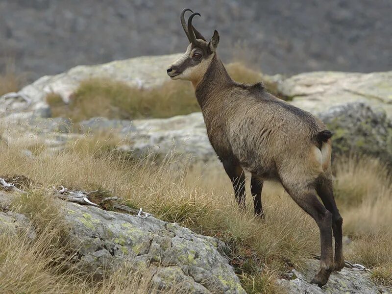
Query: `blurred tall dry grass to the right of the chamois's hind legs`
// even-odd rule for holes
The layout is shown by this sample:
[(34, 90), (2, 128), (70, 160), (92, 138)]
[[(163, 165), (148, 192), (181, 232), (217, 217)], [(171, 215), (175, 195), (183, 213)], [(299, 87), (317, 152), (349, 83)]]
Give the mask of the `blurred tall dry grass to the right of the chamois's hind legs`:
[(392, 178), (379, 160), (348, 157), (337, 161), (336, 198), (343, 232), (352, 238), (348, 259), (373, 269), (375, 282), (392, 286)]

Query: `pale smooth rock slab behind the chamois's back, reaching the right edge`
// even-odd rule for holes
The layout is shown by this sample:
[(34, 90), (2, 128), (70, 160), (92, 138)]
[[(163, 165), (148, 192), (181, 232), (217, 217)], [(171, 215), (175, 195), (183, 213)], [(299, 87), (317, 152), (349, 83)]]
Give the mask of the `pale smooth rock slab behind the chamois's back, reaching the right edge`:
[(313, 72), (294, 75), (278, 84), (278, 92), (315, 115), (333, 106), (363, 102), (383, 109), (392, 119), (392, 72)]

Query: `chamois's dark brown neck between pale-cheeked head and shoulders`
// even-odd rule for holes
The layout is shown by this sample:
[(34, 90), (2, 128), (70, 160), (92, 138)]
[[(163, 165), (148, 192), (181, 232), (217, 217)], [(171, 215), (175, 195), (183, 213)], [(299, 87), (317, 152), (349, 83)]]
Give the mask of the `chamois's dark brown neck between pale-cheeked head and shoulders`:
[(195, 89), (197, 102), (201, 109), (203, 109), (208, 103), (208, 100), (211, 99), (215, 93), (219, 93), (222, 88), (232, 81), (233, 80), (224, 68), (223, 63), (215, 54), (206, 73)]

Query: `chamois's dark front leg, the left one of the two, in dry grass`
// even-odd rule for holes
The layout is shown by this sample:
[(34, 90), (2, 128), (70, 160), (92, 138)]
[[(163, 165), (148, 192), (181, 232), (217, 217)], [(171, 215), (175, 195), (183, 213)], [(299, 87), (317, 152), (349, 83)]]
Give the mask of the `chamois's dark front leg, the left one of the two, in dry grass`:
[(224, 170), (233, 184), (236, 201), (241, 209), (245, 210), (245, 174), (244, 170), (231, 161), (222, 160)]

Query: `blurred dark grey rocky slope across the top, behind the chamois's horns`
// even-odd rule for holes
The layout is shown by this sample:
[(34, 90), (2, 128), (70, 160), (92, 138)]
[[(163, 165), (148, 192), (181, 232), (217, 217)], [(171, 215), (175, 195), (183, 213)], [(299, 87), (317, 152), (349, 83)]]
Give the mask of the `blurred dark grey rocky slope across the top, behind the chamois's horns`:
[(141, 55), (183, 51), (184, 7), (208, 38), (221, 33), (224, 61), (264, 73), (392, 68), (390, 0), (0, 0), (0, 70), (10, 60), (27, 81)]

